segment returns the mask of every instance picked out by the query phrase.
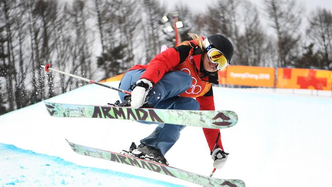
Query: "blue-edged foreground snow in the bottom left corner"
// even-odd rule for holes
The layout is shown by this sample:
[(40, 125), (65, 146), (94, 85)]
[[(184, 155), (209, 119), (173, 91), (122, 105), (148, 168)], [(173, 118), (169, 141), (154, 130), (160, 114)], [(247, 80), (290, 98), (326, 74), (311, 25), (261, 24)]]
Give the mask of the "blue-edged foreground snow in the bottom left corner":
[(146, 177), (82, 167), (59, 157), (5, 144), (0, 144), (0, 158), (5, 159), (2, 168), (10, 168), (0, 175), (0, 186), (131, 186), (133, 183), (136, 186), (175, 186)]

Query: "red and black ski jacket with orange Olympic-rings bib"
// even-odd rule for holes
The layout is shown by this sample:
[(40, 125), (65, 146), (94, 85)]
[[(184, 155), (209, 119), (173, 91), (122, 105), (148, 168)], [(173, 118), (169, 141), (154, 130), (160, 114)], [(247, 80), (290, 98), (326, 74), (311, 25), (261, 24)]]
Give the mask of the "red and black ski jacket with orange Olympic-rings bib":
[[(154, 84), (169, 71), (183, 71), (188, 73), (193, 78), (192, 86), (181, 93), (180, 96), (196, 98), (200, 104), (200, 110), (215, 110), (212, 84), (209, 82), (209, 77), (201, 75), (200, 64), (203, 52), (194, 40), (189, 42), (190, 44), (182, 44), (176, 48), (169, 48), (158, 54), (149, 64), (135, 65), (130, 70), (146, 69), (140, 78), (148, 79)], [(218, 74), (215, 74), (215, 76), (218, 78)], [(203, 128), (203, 132), (209, 149), (212, 151), (220, 130)], [(218, 139), (217, 146), (223, 149), (221, 138)]]

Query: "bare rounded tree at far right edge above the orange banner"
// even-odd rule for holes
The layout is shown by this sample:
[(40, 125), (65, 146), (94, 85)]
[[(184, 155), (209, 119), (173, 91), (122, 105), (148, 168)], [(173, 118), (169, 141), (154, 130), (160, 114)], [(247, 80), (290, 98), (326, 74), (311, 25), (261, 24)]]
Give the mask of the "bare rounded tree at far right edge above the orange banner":
[(332, 69), (332, 13), (325, 8), (317, 8), (311, 13), (309, 26), (306, 30), (307, 36), (318, 46), (319, 54), (322, 56), (321, 69)]

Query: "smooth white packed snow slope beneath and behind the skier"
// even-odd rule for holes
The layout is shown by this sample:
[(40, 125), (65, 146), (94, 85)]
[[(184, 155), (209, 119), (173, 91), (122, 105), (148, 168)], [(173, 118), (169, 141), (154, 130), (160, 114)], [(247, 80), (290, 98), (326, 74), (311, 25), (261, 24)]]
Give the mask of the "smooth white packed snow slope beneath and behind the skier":
[[(118, 82), (107, 84), (116, 87)], [(238, 124), (221, 130), (224, 149), (230, 154), (214, 177), (242, 179), (253, 187), (330, 185), (331, 97), (221, 87), (214, 87), (214, 95), (216, 109), (233, 110), (239, 115)], [(106, 105), (117, 99), (114, 90), (87, 85), (46, 101)], [(40, 102), (0, 116), (0, 143), (61, 157), (83, 167), (194, 186), (148, 170), (76, 154), (65, 141), (67, 138), (120, 152), (131, 142), (138, 144), (155, 127), (124, 120), (54, 118)], [(170, 166), (183, 170), (209, 175), (213, 169), (201, 128), (186, 127), (165, 157)]]

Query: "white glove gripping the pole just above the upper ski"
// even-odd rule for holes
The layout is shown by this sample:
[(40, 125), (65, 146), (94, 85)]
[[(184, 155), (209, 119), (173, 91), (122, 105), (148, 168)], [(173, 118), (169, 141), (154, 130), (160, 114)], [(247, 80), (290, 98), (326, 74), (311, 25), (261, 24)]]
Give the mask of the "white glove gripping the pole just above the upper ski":
[(153, 84), (147, 79), (139, 79), (136, 82), (136, 87), (131, 92), (131, 102), (130, 106), (133, 108), (139, 108), (143, 106), (147, 101), (149, 91), (151, 90)]

